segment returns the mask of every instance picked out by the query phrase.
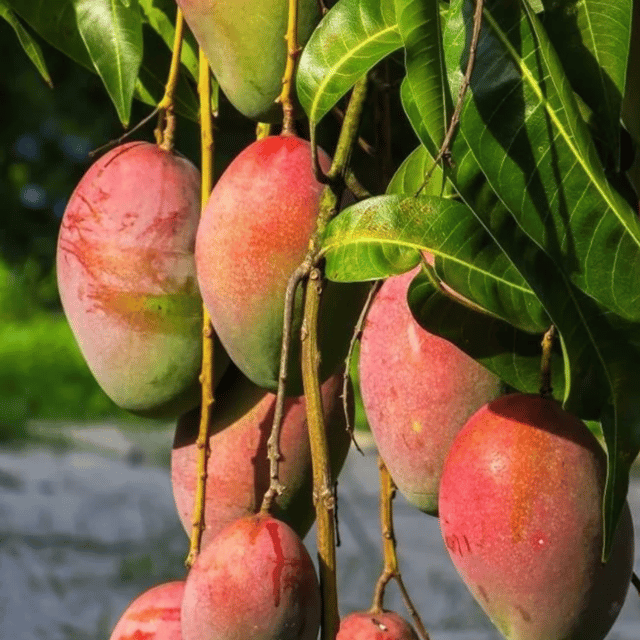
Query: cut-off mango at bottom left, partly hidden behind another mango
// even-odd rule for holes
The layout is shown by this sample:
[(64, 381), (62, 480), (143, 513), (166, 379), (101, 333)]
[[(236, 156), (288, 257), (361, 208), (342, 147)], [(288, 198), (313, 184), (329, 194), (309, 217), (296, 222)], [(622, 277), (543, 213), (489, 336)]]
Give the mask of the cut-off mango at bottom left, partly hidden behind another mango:
[(184, 584), (183, 580), (165, 582), (139, 595), (126, 608), (109, 640), (182, 640)]

